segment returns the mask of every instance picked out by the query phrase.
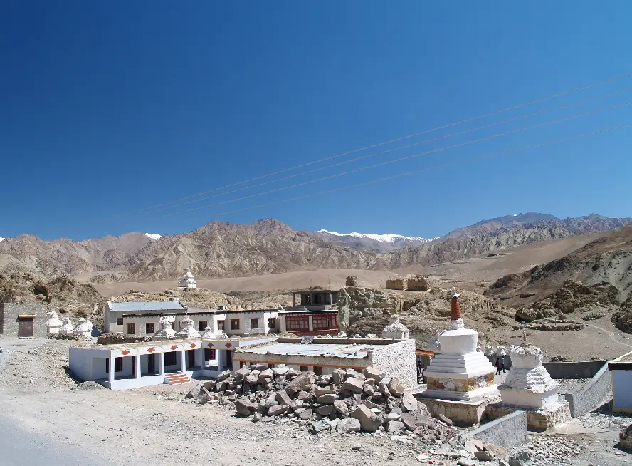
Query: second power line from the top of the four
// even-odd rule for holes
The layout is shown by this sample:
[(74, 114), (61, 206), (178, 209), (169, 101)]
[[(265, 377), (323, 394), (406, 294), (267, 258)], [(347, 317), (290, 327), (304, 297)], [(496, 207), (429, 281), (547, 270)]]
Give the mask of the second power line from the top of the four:
[(438, 136), (436, 138), (426, 139), (426, 140), (420, 141), (418, 143), (401, 145), (399, 147), (394, 147), (394, 148), (388, 149), (388, 150), (381, 150), (379, 152), (374, 152), (374, 153), (369, 154), (369, 155), (363, 155), (362, 157), (355, 157), (353, 159), (344, 160), (342, 162), (337, 162), (337, 163), (334, 163), (332, 165), (325, 165), (325, 167), (318, 167), (318, 168), (315, 168), (313, 170), (308, 170), (306, 172), (295, 173), (294, 175), (288, 175), (286, 177), (277, 178), (275, 180), (265, 181), (263, 183), (258, 183), (256, 185), (250, 185), (250, 186), (246, 186), (246, 187), (241, 187), (241, 188), (238, 188), (237, 190), (220, 192), (219, 194), (216, 194), (216, 195), (200, 197), (199, 199), (191, 200), (191, 201), (188, 201), (188, 202), (182, 202), (181, 204), (169, 205), (167, 207), (162, 207), (162, 209), (158, 209), (158, 211), (162, 211), (162, 210), (166, 210), (166, 209), (173, 209), (175, 207), (181, 207), (183, 205), (188, 205), (188, 204), (194, 204), (195, 202), (201, 202), (201, 201), (204, 201), (204, 200), (213, 199), (215, 197), (221, 197), (221, 196), (233, 194), (235, 192), (251, 190), (254, 187), (270, 185), (271, 183), (280, 182), (280, 181), (283, 181), (283, 180), (289, 180), (290, 178), (295, 178), (295, 177), (303, 176), (303, 175), (309, 175), (310, 173), (320, 172), (321, 170), (327, 170), (328, 168), (337, 167), (339, 165), (345, 165), (347, 163), (357, 162), (359, 160), (364, 160), (364, 159), (367, 159), (369, 157), (375, 157), (376, 155), (386, 154), (388, 152), (394, 152), (396, 150), (406, 149), (408, 147), (413, 147), (413, 146), (421, 145), (421, 144), (425, 144), (425, 143), (431, 143), (433, 141), (440, 140), (440, 139), (451, 138), (453, 136), (462, 135), (462, 134), (465, 134), (465, 133), (470, 133), (470, 132), (476, 131), (476, 130), (483, 130), (485, 128), (491, 128), (492, 126), (501, 125), (502, 123), (510, 123), (512, 121), (522, 120), (523, 118), (529, 118), (529, 117), (532, 117), (532, 116), (535, 116), (535, 115), (542, 115), (543, 113), (552, 112), (554, 110), (560, 110), (562, 108), (571, 107), (572, 105), (579, 105), (581, 103), (591, 102), (592, 100), (599, 100), (599, 99), (602, 99), (602, 98), (611, 97), (612, 95), (616, 95), (616, 94), (623, 93), (623, 92), (628, 92), (629, 90), (632, 90), (632, 88), (620, 89), (620, 90), (616, 90), (615, 92), (612, 92), (612, 93), (597, 95), (596, 97), (591, 97), (591, 98), (584, 99), (584, 100), (576, 100), (575, 102), (567, 103), (565, 105), (559, 105), (557, 107), (547, 108), (545, 110), (539, 110), (539, 111), (534, 112), (534, 113), (527, 113), (527, 115), (520, 115), (518, 117), (509, 118), (507, 120), (500, 120), (500, 121), (497, 121), (497, 122), (494, 122), (494, 123), (490, 123), (488, 125), (477, 126), (476, 128), (470, 128), (468, 130), (458, 131), (457, 133), (451, 133), (451, 134), (448, 134), (448, 135)]

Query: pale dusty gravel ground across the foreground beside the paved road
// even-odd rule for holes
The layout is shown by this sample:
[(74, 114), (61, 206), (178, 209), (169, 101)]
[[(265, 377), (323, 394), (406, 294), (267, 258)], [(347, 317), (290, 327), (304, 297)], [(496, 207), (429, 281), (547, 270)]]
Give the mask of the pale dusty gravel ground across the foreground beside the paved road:
[[(312, 435), (289, 418), (252, 423), (233, 417), (229, 406), (182, 403), (196, 382), (125, 391), (70, 390), (77, 384), (64, 366), (68, 348), (77, 344), (45, 340), (11, 346), (11, 358), (0, 370), (3, 415), (20, 428), (98, 451), (112, 465), (137, 464), (140, 457), (147, 464), (170, 466), (457, 464), (408, 435)], [(568, 381), (564, 389), (582, 383)], [(629, 423), (632, 417), (590, 413), (555, 432), (530, 435), (524, 448), (536, 466), (631, 465), (632, 455), (616, 448), (619, 430)]]

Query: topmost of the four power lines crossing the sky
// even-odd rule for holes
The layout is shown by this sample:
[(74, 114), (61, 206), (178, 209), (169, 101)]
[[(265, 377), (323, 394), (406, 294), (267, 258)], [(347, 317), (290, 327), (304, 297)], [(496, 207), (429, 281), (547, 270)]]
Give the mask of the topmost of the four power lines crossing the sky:
[[(297, 168), (307, 167), (308, 165), (314, 165), (316, 163), (325, 162), (326, 160), (332, 160), (332, 159), (337, 158), (337, 157), (343, 157), (344, 155), (353, 154), (355, 152), (361, 152), (362, 150), (372, 149), (374, 147), (379, 147), (381, 145), (386, 145), (386, 144), (390, 144), (390, 143), (396, 143), (397, 141), (400, 141), (400, 140), (404, 140), (404, 139), (408, 139), (408, 138), (414, 138), (415, 136), (418, 136), (418, 135), (432, 133), (433, 131), (443, 130), (445, 128), (450, 128), (451, 126), (460, 125), (460, 124), (463, 124), (463, 123), (468, 123), (470, 121), (478, 120), (480, 118), (485, 118), (485, 117), (488, 117), (488, 116), (491, 116), (491, 115), (497, 115), (498, 113), (503, 113), (503, 112), (507, 112), (507, 111), (510, 111), (510, 110), (515, 110), (516, 108), (521, 108), (521, 107), (525, 107), (527, 105), (532, 105), (534, 103), (543, 102), (544, 100), (551, 100), (553, 98), (562, 97), (562, 95), (576, 93), (576, 92), (579, 92), (581, 90), (594, 88), (596, 86), (601, 86), (603, 84), (613, 83), (614, 81), (620, 81), (621, 79), (629, 78), (630, 76), (632, 76), (632, 73), (628, 73), (628, 74), (623, 75), (623, 76), (617, 76), (616, 78), (606, 79), (605, 81), (599, 81), (598, 83), (589, 84), (587, 86), (582, 86), (580, 88), (574, 88), (574, 89), (571, 89), (571, 90), (565, 90), (562, 93), (548, 95), (547, 97), (542, 97), (542, 98), (538, 98), (536, 100), (531, 100), (530, 102), (520, 103), (518, 105), (512, 105), (511, 107), (503, 108), (501, 110), (495, 110), (495, 111), (490, 112), (490, 113), (484, 113), (482, 115), (477, 115), (475, 117), (466, 118), (465, 120), (458, 120), (458, 121), (455, 121), (453, 123), (448, 123), (447, 125), (442, 125), (442, 126), (438, 126), (436, 128), (431, 128), (431, 129), (428, 129), (428, 130), (419, 131), (418, 133), (414, 133), (414, 134), (410, 134), (410, 135), (406, 135), (406, 136), (401, 136), (401, 138), (391, 139), (391, 140), (388, 140), (388, 141), (386, 141), (384, 143), (378, 143), (378, 144), (374, 144), (374, 145), (368, 145), (366, 147), (361, 147), (361, 148), (355, 149), (355, 150), (349, 150), (348, 152), (342, 152), (340, 154), (332, 155), (330, 157), (325, 157), (325, 158), (322, 158), (320, 160), (314, 160), (312, 162), (306, 162), (306, 163), (303, 163), (301, 165), (296, 165), (295, 167), (285, 168), (283, 170), (278, 170), (277, 172), (270, 172), (270, 173), (268, 173), (266, 175), (260, 175), (258, 177), (253, 177), (253, 178), (250, 178), (248, 180), (234, 182), (234, 183), (231, 183), (230, 185), (224, 185), (224, 186), (221, 186), (221, 187), (214, 188), (213, 190), (203, 191), (203, 192), (199, 192), (199, 193), (194, 194), (194, 195), (190, 195), (190, 196), (186, 196), (186, 197), (180, 197), (178, 199), (170, 200), (170, 201), (167, 201), (167, 202), (162, 202), (161, 204), (155, 204), (155, 205), (152, 205), (152, 206), (149, 206), (149, 207), (144, 207), (143, 209), (139, 209), (139, 211), (135, 211), (135, 212), (142, 212), (142, 211), (145, 211), (145, 210), (154, 209), (156, 207), (162, 207), (162, 206), (164, 206), (166, 204), (171, 204), (172, 202), (184, 201), (184, 200), (191, 199), (191, 197), (197, 197), (197, 196), (209, 194), (210, 192), (216, 192), (218, 190), (224, 190), (227, 187), (243, 185), (244, 183), (260, 180), (261, 178), (265, 178), (265, 177), (269, 177), (269, 176), (273, 176), (273, 175), (280, 175), (281, 173), (289, 172), (291, 170), (296, 170)], [(134, 213), (134, 212), (128, 212), (128, 213)]]

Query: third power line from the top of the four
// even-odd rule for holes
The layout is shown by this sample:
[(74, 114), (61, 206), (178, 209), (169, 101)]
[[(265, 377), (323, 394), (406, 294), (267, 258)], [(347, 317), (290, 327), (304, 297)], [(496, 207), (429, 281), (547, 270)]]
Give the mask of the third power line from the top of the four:
[(533, 128), (539, 128), (540, 126), (544, 126), (544, 125), (552, 125), (554, 123), (559, 123), (559, 122), (562, 122), (562, 121), (565, 121), (565, 120), (572, 120), (574, 118), (581, 118), (581, 117), (584, 117), (586, 115), (591, 115), (591, 114), (594, 114), (594, 113), (604, 112), (606, 110), (612, 110), (613, 108), (620, 108), (620, 107), (624, 107), (626, 105), (632, 105), (632, 102), (622, 103), (622, 104), (619, 104), (619, 105), (612, 105), (611, 107), (606, 107), (606, 108), (599, 108), (598, 110), (591, 110), (590, 112), (586, 112), (586, 113), (579, 113), (577, 115), (572, 115), (572, 116), (565, 117), (565, 118), (559, 118), (557, 120), (551, 120), (551, 121), (547, 121), (547, 122), (544, 122), (544, 123), (538, 123), (537, 125), (527, 126), (526, 128), (519, 128), (517, 130), (511, 130), (511, 131), (507, 131), (505, 133), (495, 134), (495, 135), (491, 135), (491, 136), (485, 136), (485, 138), (478, 138), (478, 139), (475, 139), (475, 140), (469, 140), (469, 141), (465, 141), (465, 143), (458, 143), (458, 144), (454, 144), (454, 145), (448, 145), (446, 147), (440, 147), (438, 149), (428, 150), (426, 152), (420, 152), (418, 154), (408, 155), (406, 157), (400, 157), (399, 159), (387, 160), (386, 162), (376, 163), (374, 165), (369, 165), (367, 167), (359, 167), (359, 168), (356, 168), (354, 170), (349, 170), (347, 172), (336, 173), (335, 175), (329, 175), (329, 176), (326, 176), (326, 177), (320, 177), (320, 178), (317, 178), (316, 180), (309, 180), (309, 181), (297, 183), (295, 185), (280, 187), (280, 188), (277, 188), (275, 190), (259, 192), (259, 193), (253, 194), (253, 195), (238, 197), (236, 199), (226, 200), (226, 201), (222, 201), (222, 202), (216, 202), (214, 204), (209, 204), (209, 205), (205, 205), (205, 206), (201, 206), (201, 207), (194, 207), (193, 209), (188, 209), (188, 210), (184, 210), (184, 211), (181, 211), (181, 212), (173, 212), (171, 214), (164, 214), (164, 215), (161, 215), (159, 217), (171, 217), (173, 215), (186, 214), (188, 212), (194, 212), (195, 210), (208, 209), (209, 207), (215, 207), (215, 206), (218, 206), (218, 205), (221, 205), (221, 204), (228, 204), (229, 202), (237, 202), (237, 201), (241, 201), (241, 200), (245, 200), (245, 199), (250, 199), (251, 197), (258, 197), (258, 196), (267, 195), (267, 194), (270, 194), (272, 192), (289, 190), (289, 189), (291, 189), (293, 187), (310, 185), (311, 183), (315, 183), (315, 182), (319, 182), (319, 181), (323, 181), (323, 180), (330, 180), (331, 178), (341, 177), (341, 176), (344, 176), (344, 175), (349, 175), (350, 173), (361, 172), (362, 170), (368, 170), (369, 168), (381, 167), (383, 165), (389, 165), (391, 163), (401, 162), (402, 160), (409, 160), (409, 159), (412, 159), (412, 158), (415, 158), (415, 157), (420, 157), (421, 155), (428, 155), (428, 154), (431, 154), (431, 153), (434, 153), (434, 152), (441, 152), (442, 150), (453, 149), (454, 147), (461, 147), (463, 145), (479, 143), (480, 141), (483, 141), (483, 140), (490, 140), (490, 139), (500, 138), (501, 136), (514, 134), (514, 133), (520, 133), (522, 131), (531, 130)]

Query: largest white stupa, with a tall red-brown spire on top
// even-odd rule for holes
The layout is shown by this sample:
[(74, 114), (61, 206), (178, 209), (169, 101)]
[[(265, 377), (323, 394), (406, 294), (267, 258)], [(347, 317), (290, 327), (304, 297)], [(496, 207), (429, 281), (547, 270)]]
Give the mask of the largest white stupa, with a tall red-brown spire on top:
[(479, 401), (499, 398), (492, 363), (476, 351), (478, 332), (465, 328), (458, 293), (452, 294), (452, 326), (439, 334), (441, 353), (423, 371), (427, 380), (426, 398)]

